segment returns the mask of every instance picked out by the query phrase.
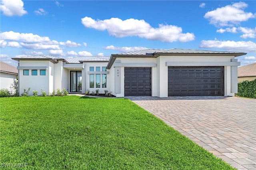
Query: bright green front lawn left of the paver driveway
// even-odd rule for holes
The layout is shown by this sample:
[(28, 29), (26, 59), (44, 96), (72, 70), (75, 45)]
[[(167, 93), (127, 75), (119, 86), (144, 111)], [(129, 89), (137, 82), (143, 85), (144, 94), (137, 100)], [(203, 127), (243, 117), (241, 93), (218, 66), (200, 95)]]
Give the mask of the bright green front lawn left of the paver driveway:
[(234, 169), (128, 99), (79, 96), (0, 98), (0, 164), (9, 163), (23, 163), (22, 169)]

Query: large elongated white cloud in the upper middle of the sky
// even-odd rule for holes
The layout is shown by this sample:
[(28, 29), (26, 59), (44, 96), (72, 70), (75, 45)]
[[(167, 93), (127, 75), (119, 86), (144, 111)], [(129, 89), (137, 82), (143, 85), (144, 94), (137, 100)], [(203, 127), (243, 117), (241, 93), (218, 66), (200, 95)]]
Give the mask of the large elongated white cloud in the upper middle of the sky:
[(153, 28), (144, 20), (136, 20), (133, 18), (127, 20), (111, 18), (96, 21), (86, 16), (81, 20), (86, 28), (94, 28), (100, 31), (107, 30), (110, 35), (118, 38), (138, 36), (140, 38), (160, 40), (162, 42), (188, 42), (195, 39), (193, 33), (184, 34), (182, 33), (182, 28), (178, 26), (159, 24), (158, 28)]

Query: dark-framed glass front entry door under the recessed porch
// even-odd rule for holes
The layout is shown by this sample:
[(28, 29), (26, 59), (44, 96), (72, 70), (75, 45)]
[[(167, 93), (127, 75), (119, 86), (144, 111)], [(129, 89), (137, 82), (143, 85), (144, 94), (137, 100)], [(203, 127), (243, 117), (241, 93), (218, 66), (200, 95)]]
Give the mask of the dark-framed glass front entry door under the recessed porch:
[(82, 71), (70, 71), (70, 92), (82, 91)]

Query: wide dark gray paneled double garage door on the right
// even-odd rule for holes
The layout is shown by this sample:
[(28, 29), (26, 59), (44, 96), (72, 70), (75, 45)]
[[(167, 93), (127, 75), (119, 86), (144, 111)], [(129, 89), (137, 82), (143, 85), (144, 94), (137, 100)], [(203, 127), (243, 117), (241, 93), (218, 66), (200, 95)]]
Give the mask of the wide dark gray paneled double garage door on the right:
[(168, 95), (223, 95), (223, 67), (168, 67)]

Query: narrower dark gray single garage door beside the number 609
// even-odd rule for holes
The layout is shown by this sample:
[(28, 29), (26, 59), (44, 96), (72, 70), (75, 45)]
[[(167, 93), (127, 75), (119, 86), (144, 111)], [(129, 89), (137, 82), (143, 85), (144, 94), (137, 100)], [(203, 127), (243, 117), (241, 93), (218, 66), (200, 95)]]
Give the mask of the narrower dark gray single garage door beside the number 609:
[(151, 95), (151, 68), (124, 68), (124, 95)]

